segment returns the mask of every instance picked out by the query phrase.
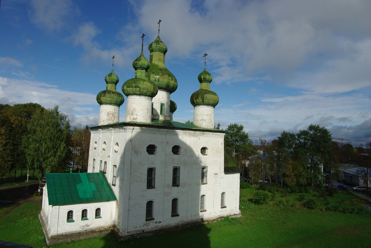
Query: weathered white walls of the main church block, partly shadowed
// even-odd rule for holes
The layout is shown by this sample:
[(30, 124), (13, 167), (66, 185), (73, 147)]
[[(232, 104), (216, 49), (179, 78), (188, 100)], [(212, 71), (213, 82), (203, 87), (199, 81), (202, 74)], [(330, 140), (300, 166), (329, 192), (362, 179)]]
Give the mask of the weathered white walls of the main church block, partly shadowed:
[[(99, 161), (107, 162), (108, 182), (112, 185), (113, 165), (117, 165), (115, 227), (122, 236), (167, 228), (201, 219), (239, 214), (239, 173), (224, 175), (224, 133), (205, 130), (128, 126), (91, 130), (88, 172), (99, 171)], [(106, 149), (102, 149), (106, 142)], [(115, 143), (119, 151), (114, 151)], [(157, 146), (149, 155), (148, 145)], [(171, 148), (181, 147), (174, 155)], [(206, 146), (207, 155), (200, 149)], [(180, 186), (172, 186), (173, 167), (180, 168)], [(201, 184), (201, 168), (207, 166), (207, 184)], [(147, 189), (147, 169), (155, 168), (155, 188)], [(226, 192), (226, 208), (220, 207)], [(200, 212), (200, 196), (206, 195), (206, 212)], [(179, 216), (171, 217), (171, 201), (178, 198)], [(154, 220), (145, 221), (147, 201), (154, 201)]]

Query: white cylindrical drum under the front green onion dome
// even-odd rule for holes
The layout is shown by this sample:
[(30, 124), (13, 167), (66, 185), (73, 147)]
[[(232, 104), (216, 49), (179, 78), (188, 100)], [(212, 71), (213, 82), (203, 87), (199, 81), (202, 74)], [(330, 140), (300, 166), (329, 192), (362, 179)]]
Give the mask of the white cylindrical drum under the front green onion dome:
[(152, 122), (152, 97), (128, 96), (125, 121)]

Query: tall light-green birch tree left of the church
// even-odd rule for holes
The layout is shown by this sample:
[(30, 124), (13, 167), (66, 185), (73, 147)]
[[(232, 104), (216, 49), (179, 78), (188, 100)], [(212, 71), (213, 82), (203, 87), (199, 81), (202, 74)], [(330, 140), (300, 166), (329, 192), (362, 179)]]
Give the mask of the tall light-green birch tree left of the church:
[(23, 139), (27, 167), (39, 172), (40, 180), (45, 173), (62, 171), (70, 133), (67, 116), (59, 112), (58, 106), (39, 109), (27, 128), (29, 134)]

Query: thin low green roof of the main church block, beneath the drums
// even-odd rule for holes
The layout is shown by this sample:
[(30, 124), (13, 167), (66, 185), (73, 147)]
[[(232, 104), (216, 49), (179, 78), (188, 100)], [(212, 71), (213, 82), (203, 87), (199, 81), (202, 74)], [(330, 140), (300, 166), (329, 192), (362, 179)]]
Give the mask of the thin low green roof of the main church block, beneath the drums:
[[(219, 131), (219, 132), (224, 132), (221, 129), (216, 129), (216, 128), (201, 128), (195, 125), (191, 124), (185, 124), (182, 122), (174, 122), (172, 120), (152, 120), (152, 122), (147, 123), (147, 122), (118, 122), (118, 123), (112, 123), (112, 124), (107, 124), (107, 125), (102, 125), (102, 126), (116, 126), (116, 125), (148, 125), (148, 126), (160, 126), (160, 127), (168, 127), (168, 128), (185, 128), (185, 129), (194, 129), (194, 130), (210, 130), (210, 131)], [(98, 128), (100, 126), (94, 126), (91, 127), (91, 129)]]

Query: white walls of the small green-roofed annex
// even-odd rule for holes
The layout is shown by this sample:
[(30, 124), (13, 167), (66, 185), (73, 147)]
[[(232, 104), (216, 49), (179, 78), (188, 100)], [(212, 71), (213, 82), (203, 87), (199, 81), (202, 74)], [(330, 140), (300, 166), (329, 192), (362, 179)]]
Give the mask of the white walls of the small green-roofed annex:
[[(47, 184), (47, 182), (46, 182)], [(99, 228), (114, 226), (116, 202), (92, 202), (71, 205), (49, 205), (46, 184), (43, 188), (41, 217), (47, 224), (49, 238), (55, 235), (67, 235), (75, 232), (93, 231)], [(95, 209), (101, 208), (101, 217), (95, 218)], [(83, 209), (88, 209), (88, 219), (82, 220)], [(73, 220), (67, 222), (67, 212), (73, 211)]]

